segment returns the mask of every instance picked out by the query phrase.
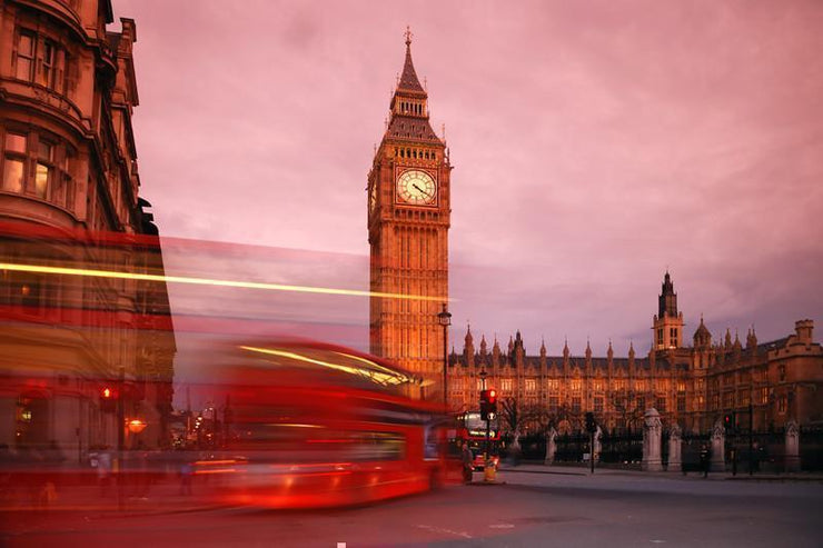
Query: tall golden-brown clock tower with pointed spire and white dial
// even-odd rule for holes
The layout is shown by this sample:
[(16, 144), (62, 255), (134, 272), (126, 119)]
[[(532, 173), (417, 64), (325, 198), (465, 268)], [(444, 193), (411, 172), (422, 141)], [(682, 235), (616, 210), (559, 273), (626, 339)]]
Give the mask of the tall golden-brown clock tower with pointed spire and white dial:
[[(446, 146), (428, 120), (428, 94), (406, 62), (391, 97), (386, 133), (368, 175), (368, 241), (374, 293), (371, 352), (420, 375), (427, 397), (442, 390), (444, 332), (437, 313), (448, 299), (449, 175)], [(405, 298), (404, 298), (405, 297)]]

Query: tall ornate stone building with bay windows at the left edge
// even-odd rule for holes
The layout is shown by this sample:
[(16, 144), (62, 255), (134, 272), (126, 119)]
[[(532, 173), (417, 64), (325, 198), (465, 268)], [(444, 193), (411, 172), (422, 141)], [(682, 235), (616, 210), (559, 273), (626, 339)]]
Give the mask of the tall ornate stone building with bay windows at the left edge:
[[(0, 0), (0, 444), (162, 445), (176, 351), (131, 118), (135, 21), (110, 0)], [(54, 270), (62, 269), (62, 270)], [(98, 273), (95, 273), (98, 272)], [(139, 426), (139, 425), (138, 425)], [(137, 430), (141, 430), (139, 434)]]

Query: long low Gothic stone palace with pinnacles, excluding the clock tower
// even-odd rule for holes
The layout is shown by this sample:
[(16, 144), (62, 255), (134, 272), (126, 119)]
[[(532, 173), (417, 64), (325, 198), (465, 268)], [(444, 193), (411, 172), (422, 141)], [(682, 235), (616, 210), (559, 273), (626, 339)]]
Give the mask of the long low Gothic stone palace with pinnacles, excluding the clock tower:
[[(519, 331), (505, 350), (485, 337), (475, 347), (470, 328), (463, 351), (449, 358), (449, 402), (454, 410), (478, 406), (483, 371), (502, 400), (515, 400), (532, 425), (552, 421), (567, 431), (582, 427), (593, 411), (608, 431), (642, 427), (643, 414), (655, 408), (664, 425), (686, 432), (707, 432), (718, 418), (733, 414), (737, 428), (782, 429), (794, 419), (801, 426), (823, 422), (823, 349), (814, 341), (812, 320), (800, 320), (795, 332), (760, 342), (750, 329), (745, 343), (726, 330), (714, 339), (701, 319), (692, 346), (683, 345), (683, 315), (668, 272), (653, 318), (650, 352), (594, 357), (587, 343), (583, 356), (564, 345), (549, 356), (543, 342), (537, 356), (526, 353)], [(539, 418), (537, 418), (539, 417)], [(751, 417), (751, 419), (750, 419)], [(541, 424), (542, 422), (542, 424)]]

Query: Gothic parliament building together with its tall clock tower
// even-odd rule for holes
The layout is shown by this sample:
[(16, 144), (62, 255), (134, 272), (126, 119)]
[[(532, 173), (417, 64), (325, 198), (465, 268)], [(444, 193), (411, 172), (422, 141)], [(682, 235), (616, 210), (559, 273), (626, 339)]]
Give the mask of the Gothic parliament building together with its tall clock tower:
[[(368, 173), (368, 239), (370, 246), (370, 350), (425, 379), (425, 396), (443, 397), (452, 410), (478, 406), (482, 373), (500, 399), (526, 410), (554, 416), (561, 428), (577, 429), (586, 411), (606, 428), (635, 428), (643, 411), (655, 408), (664, 422), (705, 432), (725, 412), (753, 429), (780, 429), (823, 421), (823, 350), (813, 339), (812, 320), (800, 320), (795, 332), (760, 342), (754, 330), (745, 342), (726, 330), (713, 338), (701, 319), (684, 342), (683, 313), (666, 272), (653, 320), (647, 356), (549, 356), (545, 343), (537, 356), (526, 353), (518, 332), (503, 351), (485, 337), (475, 347), (470, 329), (463, 351), (454, 351), (444, 368), (444, 329), (438, 325), (448, 301), (448, 230), (452, 213), (452, 169), (445, 138), (432, 130), (428, 91), (412, 61), (412, 33), (389, 103), (389, 117)], [(407, 298), (386, 298), (403, 295)], [(447, 316), (447, 315), (445, 315)], [(446, 317), (447, 320), (447, 317)], [(557, 420), (563, 418), (563, 420)]]

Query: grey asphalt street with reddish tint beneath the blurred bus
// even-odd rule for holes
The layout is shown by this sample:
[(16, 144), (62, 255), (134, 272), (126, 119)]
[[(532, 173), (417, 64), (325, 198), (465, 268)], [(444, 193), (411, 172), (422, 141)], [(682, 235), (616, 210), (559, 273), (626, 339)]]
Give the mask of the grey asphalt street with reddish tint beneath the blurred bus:
[(118, 548), (823, 545), (820, 481), (542, 470), (333, 511), (17, 512), (3, 516), (0, 538), (13, 547)]

